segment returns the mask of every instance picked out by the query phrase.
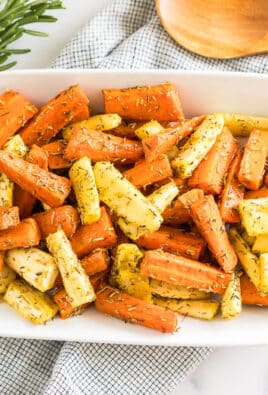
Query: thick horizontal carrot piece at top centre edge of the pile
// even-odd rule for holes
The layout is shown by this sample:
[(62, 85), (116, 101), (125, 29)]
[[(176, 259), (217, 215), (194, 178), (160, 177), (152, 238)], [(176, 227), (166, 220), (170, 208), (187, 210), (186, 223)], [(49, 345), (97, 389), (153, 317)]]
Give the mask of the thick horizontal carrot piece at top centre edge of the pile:
[(143, 121), (178, 121), (184, 119), (177, 88), (165, 83), (128, 89), (104, 89), (107, 113)]

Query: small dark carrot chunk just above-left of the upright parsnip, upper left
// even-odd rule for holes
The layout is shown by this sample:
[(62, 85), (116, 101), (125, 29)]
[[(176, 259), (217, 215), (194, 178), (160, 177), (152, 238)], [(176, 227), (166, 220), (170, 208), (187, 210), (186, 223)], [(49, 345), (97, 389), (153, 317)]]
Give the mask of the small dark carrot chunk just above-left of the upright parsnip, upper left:
[(48, 157), (48, 167), (50, 169), (67, 169), (72, 162), (64, 158), (67, 141), (56, 140), (43, 145), (42, 148)]

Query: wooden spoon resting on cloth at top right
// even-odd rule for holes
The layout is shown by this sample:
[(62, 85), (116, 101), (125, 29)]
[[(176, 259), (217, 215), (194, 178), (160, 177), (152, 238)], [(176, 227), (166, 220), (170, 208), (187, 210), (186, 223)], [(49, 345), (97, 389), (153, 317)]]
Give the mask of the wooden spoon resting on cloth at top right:
[(155, 0), (166, 31), (212, 58), (268, 52), (268, 0)]

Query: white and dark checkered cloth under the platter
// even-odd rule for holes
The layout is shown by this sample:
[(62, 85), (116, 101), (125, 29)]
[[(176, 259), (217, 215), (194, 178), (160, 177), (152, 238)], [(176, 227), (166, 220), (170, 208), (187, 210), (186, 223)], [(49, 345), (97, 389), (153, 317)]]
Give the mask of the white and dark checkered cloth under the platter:
[[(162, 29), (153, 0), (115, 0), (66, 45), (53, 67), (266, 73), (268, 62), (265, 55), (236, 60), (194, 55), (177, 45)], [(1, 339), (0, 394), (168, 394), (211, 351), (205, 347)]]

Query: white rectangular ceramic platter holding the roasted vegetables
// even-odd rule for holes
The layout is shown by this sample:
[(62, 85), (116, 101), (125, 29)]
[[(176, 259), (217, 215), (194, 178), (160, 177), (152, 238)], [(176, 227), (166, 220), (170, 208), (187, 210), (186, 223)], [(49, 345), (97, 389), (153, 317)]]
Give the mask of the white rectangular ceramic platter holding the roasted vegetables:
[[(186, 116), (217, 111), (268, 116), (268, 76), (179, 71), (25, 70), (0, 73), (0, 92), (15, 89), (41, 105), (69, 85), (80, 83), (95, 112), (102, 111), (102, 88), (126, 88), (170, 81), (180, 92)], [(0, 304), (0, 336), (165, 346), (268, 344), (268, 309), (245, 307), (232, 321), (180, 318), (176, 334), (125, 324), (88, 309), (66, 321), (35, 326)]]

